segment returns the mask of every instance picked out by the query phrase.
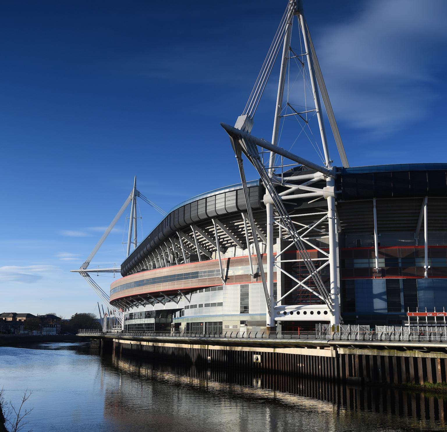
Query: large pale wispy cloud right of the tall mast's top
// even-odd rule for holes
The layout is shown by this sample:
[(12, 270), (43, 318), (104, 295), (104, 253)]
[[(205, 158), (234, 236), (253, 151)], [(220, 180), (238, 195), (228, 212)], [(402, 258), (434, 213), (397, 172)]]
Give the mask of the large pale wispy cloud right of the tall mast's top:
[(422, 121), (447, 40), (447, 2), (376, 0), (316, 43), (336, 117), (378, 133)]

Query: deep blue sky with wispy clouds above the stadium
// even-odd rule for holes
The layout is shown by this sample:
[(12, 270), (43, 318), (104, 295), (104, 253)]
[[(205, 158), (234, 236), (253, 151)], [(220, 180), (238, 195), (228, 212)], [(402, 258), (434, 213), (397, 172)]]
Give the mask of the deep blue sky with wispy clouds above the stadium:
[[(0, 5), (0, 312), (95, 311), (95, 294), (69, 270), (135, 175), (164, 210), (238, 182), (219, 122), (234, 123), (244, 108), (285, 5)], [(447, 2), (304, 5), (351, 166), (446, 162)], [(277, 71), (253, 129), (269, 139)], [(293, 151), (318, 160), (308, 142)], [(146, 235), (160, 215), (139, 206)], [(92, 264), (121, 263), (124, 227), (123, 218)], [(95, 280), (105, 290), (112, 281)]]

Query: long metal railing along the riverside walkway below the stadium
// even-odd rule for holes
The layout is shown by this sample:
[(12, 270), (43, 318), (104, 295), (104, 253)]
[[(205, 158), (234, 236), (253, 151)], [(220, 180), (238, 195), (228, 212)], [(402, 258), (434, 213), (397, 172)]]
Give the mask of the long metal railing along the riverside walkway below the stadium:
[(80, 329), (78, 334), (84, 336), (152, 336), (152, 337), (184, 337), (184, 338), (222, 338), (222, 339), (294, 339), (294, 340), (352, 340), (352, 341), (401, 341), (401, 342), (443, 342), (447, 341), (447, 329), (426, 328), (416, 331), (409, 329), (400, 331), (221, 331), (221, 332), (190, 332), (190, 331), (116, 331), (102, 332), (98, 330)]

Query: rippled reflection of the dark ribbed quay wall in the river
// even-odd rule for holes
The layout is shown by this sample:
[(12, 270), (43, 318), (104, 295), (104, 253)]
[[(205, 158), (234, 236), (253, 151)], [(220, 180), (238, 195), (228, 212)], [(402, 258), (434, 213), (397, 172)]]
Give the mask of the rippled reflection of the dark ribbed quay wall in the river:
[[(111, 363), (125, 372), (127, 377), (139, 379), (140, 382), (189, 387), (210, 396), (219, 394), (232, 400), (234, 405), (239, 400), (243, 409), (247, 408), (245, 404), (249, 400), (250, 405), (257, 403), (265, 407), (268, 403), (276, 407), (293, 408), (304, 417), (318, 415), (321, 419), (321, 415), (333, 415), (337, 420), (332, 422), (329, 430), (334, 431), (346, 430), (346, 427), (348, 430), (369, 430), (368, 423), (364, 422), (370, 420), (374, 430), (446, 429), (444, 419), (447, 400), (442, 395), (380, 387), (344, 386), (270, 373), (236, 373), (226, 369), (174, 366), (125, 355), (112, 357)], [(274, 419), (270, 417), (269, 421)], [(361, 425), (355, 426), (356, 422), (361, 422)], [(267, 430), (275, 430), (273, 425), (269, 428), (268, 424), (264, 424), (264, 428), (266, 426)]]

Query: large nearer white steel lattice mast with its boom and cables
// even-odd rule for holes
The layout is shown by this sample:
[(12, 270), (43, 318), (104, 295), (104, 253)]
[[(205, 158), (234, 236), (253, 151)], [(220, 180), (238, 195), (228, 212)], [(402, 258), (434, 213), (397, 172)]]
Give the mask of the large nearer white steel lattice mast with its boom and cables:
[[(304, 52), (301, 55), (296, 55), (291, 49), (291, 29), (293, 18), (297, 17), (301, 29), (302, 43), (304, 44)], [(274, 115), (274, 126), (272, 133), (272, 141), (268, 143), (260, 138), (256, 138), (251, 134), (253, 128), (253, 116), (256, 112), (257, 105), (261, 99), (266, 82), (270, 76), (275, 59), (278, 56), (279, 49), (283, 45), (281, 69), (279, 73), (278, 92)], [(277, 146), (279, 125), (282, 118), (286, 117), (283, 114), (283, 96), (284, 84), (286, 78), (287, 64), (290, 61), (291, 55), (299, 58), (299, 62), (303, 65), (307, 63), (308, 79), (310, 81), (310, 88), (312, 91), (313, 108), (304, 107), (304, 111), (299, 112), (291, 106), (292, 114), (299, 116), (304, 120), (308, 126), (308, 113), (313, 113), (318, 122), (320, 130), (320, 141), (323, 148), (324, 166), (315, 164), (309, 160), (301, 158)], [(305, 63), (304, 63), (305, 62)], [(304, 76), (304, 72), (303, 72)], [(333, 116), (332, 107), (330, 105), (329, 96), (325, 88), (324, 80), (316, 59), (315, 50), (310, 39), (308, 26), (304, 18), (303, 7), (300, 1), (290, 0), (283, 18), (278, 26), (270, 50), (267, 53), (261, 72), (257, 77), (249, 101), (245, 106), (243, 114), (238, 117), (235, 127), (225, 125), (223, 128), (230, 136), (233, 150), (236, 153), (238, 161), (241, 180), (243, 186), (245, 185), (245, 173), (242, 163), (242, 154), (244, 154), (249, 162), (256, 168), (262, 183), (266, 188), (266, 195), (264, 203), (266, 204), (267, 216), (267, 278), (262, 277), (262, 283), (266, 293), (267, 304), (267, 327), (274, 327), (275, 321), (282, 320), (297, 320), (297, 314), (303, 309), (303, 305), (284, 305), (283, 302), (289, 294), (295, 289), (306, 289), (314, 296), (324, 302), (324, 314), (328, 314), (332, 325), (340, 323), (339, 310), (339, 278), (337, 269), (337, 221), (335, 208), (335, 176), (336, 169), (332, 166), (332, 160), (329, 155), (329, 146), (325, 132), (325, 123), (323, 119), (322, 107), (320, 103), (319, 93), (321, 92), (325, 102), (326, 113), (333, 130), (334, 138), (340, 153), (342, 164), (347, 167), (348, 162), (343, 144), (338, 133), (337, 123)], [(303, 116), (306, 116), (304, 118)], [(263, 154), (269, 153), (267, 161), (264, 161)], [(276, 164), (276, 160), (280, 159), (280, 163)], [(295, 169), (293, 165), (295, 164)], [(284, 172), (283, 168), (287, 167)], [(308, 168), (308, 173), (304, 175), (296, 175), (296, 168)], [(280, 175), (276, 174), (276, 169), (281, 168)], [(299, 174), (299, 173), (298, 173)], [(247, 193), (245, 193), (247, 198)], [(325, 199), (327, 203), (327, 211), (315, 212), (315, 220), (311, 223), (303, 224), (292, 218), (290, 212), (286, 209), (285, 204), (294, 202), (296, 200), (306, 200), (309, 203), (315, 200)], [(247, 207), (249, 208), (249, 201), (247, 200)], [(249, 212), (250, 213), (250, 212)], [(311, 214), (313, 215), (313, 214)], [(293, 215), (299, 217), (300, 215)], [(308, 214), (306, 216), (309, 216)], [(254, 223), (253, 216), (249, 214), (249, 222)], [(278, 250), (276, 256), (274, 255), (274, 228), (279, 231), (279, 238), (285, 243), (288, 243), (281, 251)], [(323, 229), (320, 229), (323, 228)], [(328, 251), (325, 248), (320, 248), (312, 241), (312, 233), (319, 232), (320, 235), (328, 237)], [(281, 241), (279, 247), (281, 247)], [(300, 274), (291, 274), (284, 269), (282, 265), (283, 253), (287, 251), (292, 245), (296, 247), (298, 259), (296, 262), (304, 264), (307, 268), (307, 274), (301, 276)], [(312, 258), (308, 250), (315, 249), (319, 253), (318, 259)], [(258, 262), (261, 262), (261, 256), (257, 250)], [(317, 264), (315, 264), (317, 263)], [(329, 286), (325, 284), (322, 277), (322, 272), (327, 271), (329, 266)], [(274, 269), (278, 273), (283, 273), (284, 277), (288, 277), (294, 281), (294, 287), (284, 295), (278, 295), (274, 298)], [(263, 275), (262, 275), (263, 276)], [(310, 283), (312, 281), (312, 284)], [(311, 287), (312, 285), (312, 287)], [(295, 312), (295, 315), (293, 315)], [(310, 312), (313, 314), (313, 311)], [(317, 311), (320, 314), (320, 310)], [(306, 312), (304, 312), (306, 314)], [(303, 316), (303, 315), (302, 315)], [(323, 317), (320, 317), (322, 320)], [(317, 317), (315, 317), (317, 320)]]

